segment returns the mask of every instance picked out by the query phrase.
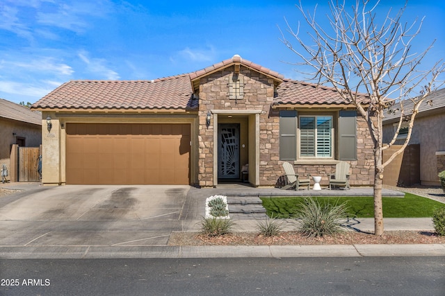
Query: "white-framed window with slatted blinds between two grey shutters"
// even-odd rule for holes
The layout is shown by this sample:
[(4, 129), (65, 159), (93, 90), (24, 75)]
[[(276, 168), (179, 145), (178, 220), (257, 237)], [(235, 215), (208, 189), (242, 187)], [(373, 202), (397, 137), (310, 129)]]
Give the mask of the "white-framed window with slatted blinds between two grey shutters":
[(300, 116), (300, 157), (332, 157), (332, 116)]

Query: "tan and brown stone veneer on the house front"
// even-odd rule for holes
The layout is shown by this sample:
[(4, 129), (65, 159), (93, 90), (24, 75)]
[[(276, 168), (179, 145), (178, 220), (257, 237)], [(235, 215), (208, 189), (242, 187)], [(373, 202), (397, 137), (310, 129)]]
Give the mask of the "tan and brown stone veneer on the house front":
[[(199, 185), (213, 186), (213, 116), (211, 125), (206, 126), (206, 114), (210, 110), (261, 110), (259, 115), (259, 185), (276, 186), (283, 175), (280, 161), (280, 113), (272, 110), (274, 80), (264, 74), (241, 66), (244, 76), (244, 97), (241, 100), (229, 99), (229, 76), (234, 67), (211, 73), (200, 78), (199, 88)], [(351, 185), (370, 185), (373, 183), (373, 144), (367, 125), (357, 117), (357, 160), (351, 161)], [(296, 165), (300, 174), (322, 175), (321, 184), (327, 184), (327, 174), (333, 173), (335, 164)]]

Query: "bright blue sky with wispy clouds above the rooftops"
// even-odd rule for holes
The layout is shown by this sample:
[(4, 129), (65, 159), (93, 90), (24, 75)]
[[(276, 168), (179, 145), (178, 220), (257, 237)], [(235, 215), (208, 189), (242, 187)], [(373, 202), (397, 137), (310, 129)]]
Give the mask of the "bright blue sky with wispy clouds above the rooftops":
[[(297, 1), (0, 0), (0, 98), (34, 103), (68, 80), (151, 80), (234, 54), (302, 80), (278, 28), (284, 18), (296, 28)], [(327, 1), (302, 1), (307, 10), (317, 2), (323, 22)], [(382, 0), (378, 9), (404, 2)], [(437, 39), (428, 69), (445, 58), (445, 2), (409, 1), (404, 19), (423, 16), (416, 48)]]

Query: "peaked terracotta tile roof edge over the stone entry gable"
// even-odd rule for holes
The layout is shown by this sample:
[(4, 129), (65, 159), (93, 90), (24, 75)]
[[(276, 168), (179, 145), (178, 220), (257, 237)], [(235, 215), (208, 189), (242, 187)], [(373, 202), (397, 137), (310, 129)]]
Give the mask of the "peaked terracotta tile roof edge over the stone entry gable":
[(190, 78), (191, 78), (191, 80), (195, 80), (196, 78), (206, 76), (209, 73), (213, 73), (215, 71), (220, 71), (221, 69), (232, 66), (232, 64), (235, 64), (235, 63), (242, 64), (245, 67), (262, 72), (268, 76), (273, 76), (277, 80), (282, 80), (284, 78), (284, 76), (282, 76), (280, 73), (272, 71), (268, 68), (262, 67), (261, 65), (255, 64), (254, 62), (250, 62), (250, 60), (245, 60), (245, 59), (241, 58), (241, 56), (239, 56), (239, 55), (234, 55), (232, 58), (223, 60), (222, 62), (218, 62), (217, 64), (213, 64), (210, 67), (192, 72), (192, 73), (190, 73)]

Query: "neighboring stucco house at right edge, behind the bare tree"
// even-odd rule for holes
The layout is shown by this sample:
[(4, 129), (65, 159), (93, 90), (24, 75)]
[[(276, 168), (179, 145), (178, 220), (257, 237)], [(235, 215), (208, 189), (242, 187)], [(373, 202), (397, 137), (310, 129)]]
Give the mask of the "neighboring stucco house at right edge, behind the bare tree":
[[(412, 114), (412, 101), (405, 101), (406, 115)], [(400, 103), (391, 107), (400, 110)], [(409, 111), (408, 111), (409, 110)], [(394, 137), (400, 112), (385, 114), (383, 121), (383, 141), (389, 143)], [(419, 107), (416, 115), (410, 144), (420, 146), (420, 182), (422, 185), (440, 186), (437, 174), (445, 170), (445, 89), (432, 92)], [(407, 137), (407, 122), (401, 127), (401, 132), (394, 144), (402, 144)]]

